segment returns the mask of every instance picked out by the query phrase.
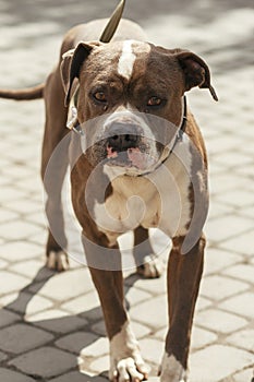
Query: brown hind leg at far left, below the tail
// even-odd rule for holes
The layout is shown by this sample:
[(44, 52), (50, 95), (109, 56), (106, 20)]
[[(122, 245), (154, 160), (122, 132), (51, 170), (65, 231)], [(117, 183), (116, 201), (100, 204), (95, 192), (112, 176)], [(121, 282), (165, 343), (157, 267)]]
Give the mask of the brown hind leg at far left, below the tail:
[[(65, 253), (66, 237), (64, 234), (61, 191), (69, 163), (69, 142), (68, 136), (64, 138), (68, 133), (65, 129), (68, 109), (64, 107), (64, 92), (59, 69), (49, 75), (44, 96), (46, 126), (43, 143), (41, 178), (47, 194), (46, 215), (49, 223), (46, 265), (49, 268), (64, 271), (69, 263)], [(58, 146), (60, 142), (61, 150)]]

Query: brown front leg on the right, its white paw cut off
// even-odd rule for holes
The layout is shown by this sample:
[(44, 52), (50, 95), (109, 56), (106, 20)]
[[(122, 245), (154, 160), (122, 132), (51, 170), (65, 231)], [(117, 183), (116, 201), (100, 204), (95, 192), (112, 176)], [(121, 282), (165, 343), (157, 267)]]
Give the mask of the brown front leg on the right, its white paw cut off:
[(173, 239), (168, 264), (169, 331), (161, 363), (161, 382), (188, 381), (188, 356), (195, 302), (203, 272), (205, 238), (181, 254), (183, 238)]

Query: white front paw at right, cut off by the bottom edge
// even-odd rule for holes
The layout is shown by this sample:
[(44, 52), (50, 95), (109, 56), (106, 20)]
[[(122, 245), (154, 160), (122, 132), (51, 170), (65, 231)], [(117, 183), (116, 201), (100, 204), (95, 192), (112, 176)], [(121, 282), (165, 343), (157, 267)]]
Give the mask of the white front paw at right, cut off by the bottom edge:
[(164, 355), (159, 375), (160, 382), (188, 382), (188, 371), (173, 355)]

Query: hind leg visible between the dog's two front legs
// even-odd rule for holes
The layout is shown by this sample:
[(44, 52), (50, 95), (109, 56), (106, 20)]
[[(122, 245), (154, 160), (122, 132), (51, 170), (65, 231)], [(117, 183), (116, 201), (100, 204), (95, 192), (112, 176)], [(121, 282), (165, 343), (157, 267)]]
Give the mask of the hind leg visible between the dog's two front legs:
[(136, 263), (136, 272), (146, 278), (160, 277), (164, 272), (164, 261), (154, 253), (149, 240), (149, 231), (142, 226), (134, 230), (133, 255)]

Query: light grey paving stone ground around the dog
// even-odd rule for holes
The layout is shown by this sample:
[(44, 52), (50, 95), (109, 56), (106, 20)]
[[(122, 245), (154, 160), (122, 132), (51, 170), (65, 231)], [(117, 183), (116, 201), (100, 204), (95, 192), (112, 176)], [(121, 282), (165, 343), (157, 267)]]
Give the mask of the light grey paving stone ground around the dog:
[[(116, 1), (0, 0), (0, 87), (45, 79), (61, 35), (110, 13)], [(126, 15), (148, 38), (186, 47), (209, 63), (219, 95), (189, 104), (209, 153), (210, 212), (205, 272), (194, 318), (191, 382), (251, 382), (254, 367), (253, 3), (130, 0)], [(145, 9), (144, 9), (145, 7)], [(0, 100), (0, 381), (104, 382), (108, 342), (85, 266), (44, 267), (46, 219), (39, 179), (41, 100)], [(160, 238), (158, 238), (158, 241)], [(158, 242), (157, 242), (158, 244)], [(125, 296), (150, 381), (164, 349), (166, 280), (126, 273)]]

